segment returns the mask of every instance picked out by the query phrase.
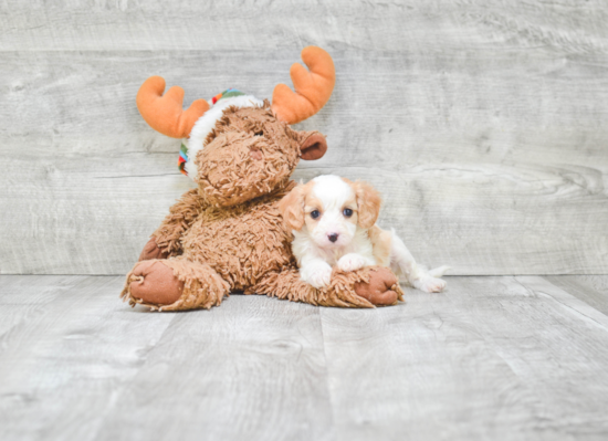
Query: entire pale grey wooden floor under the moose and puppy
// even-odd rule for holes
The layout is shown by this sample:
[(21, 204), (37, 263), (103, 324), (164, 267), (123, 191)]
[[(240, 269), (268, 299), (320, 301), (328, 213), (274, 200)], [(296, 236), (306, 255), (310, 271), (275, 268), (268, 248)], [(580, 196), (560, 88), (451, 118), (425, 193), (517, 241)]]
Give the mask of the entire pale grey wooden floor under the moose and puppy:
[(608, 276), (448, 281), (375, 311), (158, 314), (120, 276), (2, 275), (0, 439), (608, 437)]

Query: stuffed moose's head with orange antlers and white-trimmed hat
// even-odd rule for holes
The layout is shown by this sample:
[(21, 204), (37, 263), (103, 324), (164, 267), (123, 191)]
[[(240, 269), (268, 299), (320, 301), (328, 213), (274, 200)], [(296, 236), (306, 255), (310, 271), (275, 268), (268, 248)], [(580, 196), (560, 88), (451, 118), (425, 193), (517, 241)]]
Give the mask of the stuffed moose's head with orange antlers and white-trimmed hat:
[(184, 90), (165, 95), (165, 80), (151, 76), (137, 93), (137, 108), (155, 130), (187, 138), (182, 171), (199, 187), (206, 201), (231, 207), (284, 188), (298, 159), (318, 159), (327, 150), (318, 132), (297, 132), (290, 124), (316, 114), (335, 84), (332, 57), (319, 48), (302, 51), (291, 67), (295, 93), (285, 84), (274, 88), (272, 104), (228, 90), (213, 98), (195, 101), (182, 109)]

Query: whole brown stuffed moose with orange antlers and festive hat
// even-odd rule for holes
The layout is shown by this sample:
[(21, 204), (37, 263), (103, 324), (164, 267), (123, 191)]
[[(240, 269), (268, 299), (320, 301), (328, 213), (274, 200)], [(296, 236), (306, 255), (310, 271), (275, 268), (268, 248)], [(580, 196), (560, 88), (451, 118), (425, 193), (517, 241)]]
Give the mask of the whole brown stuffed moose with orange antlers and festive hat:
[(279, 84), (272, 105), (235, 90), (198, 99), (184, 111), (184, 90), (165, 91), (153, 76), (137, 94), (137, 107), (157, 132), (182, 144), (180, 168), (197, 183), (170, 209), (128, 273), (122, 297), (156, 311), (210, 308), (230, 292), (266, 294), (313, 305), (373, 307), (401, 300), (386, 267), (343, 273), (327, 288), (300, 279), (279, 201), (294, 186), (300, 158), (321, 158), (318, 132), (290, 124), (316, 114), (329, 99), (335, 70), (322, 49), (305, 48), (291, 69), (295, 93)]

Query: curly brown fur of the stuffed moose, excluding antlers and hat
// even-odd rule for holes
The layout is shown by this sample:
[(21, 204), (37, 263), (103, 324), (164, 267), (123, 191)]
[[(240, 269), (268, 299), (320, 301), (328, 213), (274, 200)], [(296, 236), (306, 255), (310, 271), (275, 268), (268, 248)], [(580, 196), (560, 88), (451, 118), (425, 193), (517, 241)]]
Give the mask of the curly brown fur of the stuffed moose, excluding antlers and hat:
[[(342, 307), (373, 307), (378, 296), (365, 298), (366, 293), (384, 286), (394, 298), (390, 302), (401, 298), (398, 287), (389, 290), (394, 275), (374, 269), (335, 272), (331, 286), (322, 291), (300, 279), (291, 231), (283, 225), (279, 202), (295, 187), (290, 175), (303, 150), (316, 159), (325, 149), (321, 134), (292, 129), (276, 119), (268, 102), (260, 107), (226, 109), (195, 159), (198, 188), (171, 207), (153, 234), (169, 259), (158, 260), (160, 266), (145, 266), (148, 273), (138, 265), (150, 261), (139, 262), (127, 275), (123, 298), (163, 311), (209, 308), (231, 291)], [(166, 283), (174, 291), (182, 286), (182, 291), (169, 296), (170, 303), (150, 302), (159, 297), (149, 291), (149, 298), (144, 298), (148, 296), (141, 288), (146, 276), (158, 277), (157, 284)]]

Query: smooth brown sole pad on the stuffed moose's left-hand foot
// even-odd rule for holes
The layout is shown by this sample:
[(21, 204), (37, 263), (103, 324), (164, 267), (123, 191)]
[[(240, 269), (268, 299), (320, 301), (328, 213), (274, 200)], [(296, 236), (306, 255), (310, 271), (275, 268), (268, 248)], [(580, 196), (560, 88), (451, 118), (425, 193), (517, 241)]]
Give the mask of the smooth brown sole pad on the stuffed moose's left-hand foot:
[(172, 269), (158, 260), (138, 263), (129, 279), (132, 297), (145, 304), (170, 305), (184, 292), (184, 282), (175, 276)]

